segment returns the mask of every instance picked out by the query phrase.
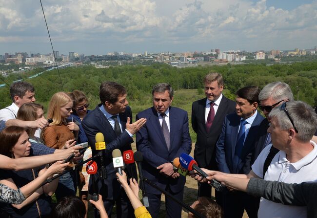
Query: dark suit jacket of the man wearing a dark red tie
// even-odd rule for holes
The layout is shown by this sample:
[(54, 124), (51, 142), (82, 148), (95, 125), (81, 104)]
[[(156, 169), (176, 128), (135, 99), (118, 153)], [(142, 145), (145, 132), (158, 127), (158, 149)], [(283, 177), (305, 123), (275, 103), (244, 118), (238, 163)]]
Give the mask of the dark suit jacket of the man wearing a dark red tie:
[(207, 98), (192, 105), (192, 127), (197, 133), (194, 159), (199, 167), (217, 170), (215, 147), (225, 116), (236, 111), (236, 103), (222, 96), (213, 125), (206, 131), (205, 110)]

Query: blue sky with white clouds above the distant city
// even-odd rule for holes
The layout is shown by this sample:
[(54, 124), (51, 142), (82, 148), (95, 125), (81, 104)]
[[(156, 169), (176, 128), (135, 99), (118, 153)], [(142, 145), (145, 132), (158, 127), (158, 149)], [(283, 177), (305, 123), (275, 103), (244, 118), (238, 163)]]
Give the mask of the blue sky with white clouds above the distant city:
[[(42, 0), (59, 54), (317, 45), (317, 0)], [(39, 0), (0, 0), (0, 55), (52, 52)]]

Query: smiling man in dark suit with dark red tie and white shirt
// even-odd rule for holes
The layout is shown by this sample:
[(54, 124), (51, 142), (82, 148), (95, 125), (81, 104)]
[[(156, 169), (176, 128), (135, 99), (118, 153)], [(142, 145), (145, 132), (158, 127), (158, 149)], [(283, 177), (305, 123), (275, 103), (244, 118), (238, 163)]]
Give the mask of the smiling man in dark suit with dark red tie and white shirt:
[[(209, 73), (203, 82), (206, 98), (200, 99), (192, 105), (192, 127), (197, 134), (194, 158), (199, 167), (218, 170), (215, 158), (216, 142), (225, 116), (236, 111), (236, 103), (221, 93), (223, 90), (221, 74)], [(209, 120), (212, 122), (210, 123)], [(220, 195), (216, 192), (216, 200), (221, 205)], [(207, 183), (198, 183), (198, 197), (200, 196), (211, 197), (211, 186)]]

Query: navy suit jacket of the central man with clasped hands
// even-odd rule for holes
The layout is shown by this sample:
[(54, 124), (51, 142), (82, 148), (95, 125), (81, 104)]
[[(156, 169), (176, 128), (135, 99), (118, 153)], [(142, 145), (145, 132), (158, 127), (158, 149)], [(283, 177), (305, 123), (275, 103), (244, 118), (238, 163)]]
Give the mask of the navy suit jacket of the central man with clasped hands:
[[(137, 114), (136, 119), (146, 118), (145, 125), (136, 134), (137, 150), (143, 154), (142, 173), (150, 181), (155, 182), (161, 189), (170, 185), (172, 192), (181, 191), (185, 185), (185, 177), (180, 175), (173, 179), (159, 173), (156, 168), (179, 157), (181, 153), (189, 154), (192, 150), (192, 141), (188, 130), (187, 112), (182, 109), (170, 107), (170, 150), (167, 149), (165, 138), (158, 120), (158, 113), (152, 107)], [(161, 194), (158, 190), (145, 183), (147, 193)]]

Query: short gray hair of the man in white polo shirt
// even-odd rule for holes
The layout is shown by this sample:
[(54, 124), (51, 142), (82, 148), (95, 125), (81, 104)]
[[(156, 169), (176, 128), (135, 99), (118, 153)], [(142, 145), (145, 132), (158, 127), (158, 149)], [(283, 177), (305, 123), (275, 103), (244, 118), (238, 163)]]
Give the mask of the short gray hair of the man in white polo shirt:
[[(317, 129), (317, 115), (314, 109), (302, 101), (285, 102), (286, 109), (294, 122), (298, 133), (297, 137), (302, 142), (308, 142), (312, 139)], [(276, 118), (279, 127), (282, 130), (294, 129), (290, 119), (284, 110), (279, 107), (272, 109), (269, 119)]]

